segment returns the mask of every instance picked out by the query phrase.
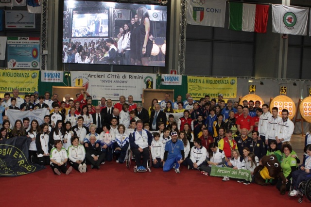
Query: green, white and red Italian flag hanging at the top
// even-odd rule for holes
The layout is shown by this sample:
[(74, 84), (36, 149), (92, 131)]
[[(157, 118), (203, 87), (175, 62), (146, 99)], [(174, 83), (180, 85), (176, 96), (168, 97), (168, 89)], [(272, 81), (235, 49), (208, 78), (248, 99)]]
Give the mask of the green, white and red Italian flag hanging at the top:
[(267, 32), (269, 5), (229, 2), (229, 29)]

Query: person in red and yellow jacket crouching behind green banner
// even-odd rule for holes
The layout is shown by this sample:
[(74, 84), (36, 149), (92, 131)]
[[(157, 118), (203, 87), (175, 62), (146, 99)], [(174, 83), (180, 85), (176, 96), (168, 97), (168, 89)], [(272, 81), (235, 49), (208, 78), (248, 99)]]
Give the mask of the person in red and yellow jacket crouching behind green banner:
[(232, 139), (232, 130), (226, 130), (225, 138), (218, 142), (218, 148), (225, 152), (225, 161), (228, 162), (231, 159), (232, 149), (238, 149), (237, 142)]

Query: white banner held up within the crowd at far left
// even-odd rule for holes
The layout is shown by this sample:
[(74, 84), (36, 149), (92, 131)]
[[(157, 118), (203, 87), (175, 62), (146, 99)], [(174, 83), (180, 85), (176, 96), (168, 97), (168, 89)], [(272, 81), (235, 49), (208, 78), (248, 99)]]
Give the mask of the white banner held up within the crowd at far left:
[(33, 119), (37, 120), (39, 125), (44, 123), (44, 116), (49, 115), (50, 111), (45, 109), (36, 109), (33, 111), (19, 111), (14, 109), (8, 109), (5, 111), (5, 115), (9, 117), (9, 120), (11, 120), (12, 125), (14, 125), (15, 121), (17, 119), (23, 120), (23, 118), (28, 117), (30, 120), (30, 123)]

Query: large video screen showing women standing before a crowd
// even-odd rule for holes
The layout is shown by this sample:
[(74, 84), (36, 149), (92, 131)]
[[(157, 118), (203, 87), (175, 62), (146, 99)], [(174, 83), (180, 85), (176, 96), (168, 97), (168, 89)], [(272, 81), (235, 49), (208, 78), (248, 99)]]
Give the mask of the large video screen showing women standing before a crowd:
[(65, 0), (62, 62), (165, 66), (167, 6)]

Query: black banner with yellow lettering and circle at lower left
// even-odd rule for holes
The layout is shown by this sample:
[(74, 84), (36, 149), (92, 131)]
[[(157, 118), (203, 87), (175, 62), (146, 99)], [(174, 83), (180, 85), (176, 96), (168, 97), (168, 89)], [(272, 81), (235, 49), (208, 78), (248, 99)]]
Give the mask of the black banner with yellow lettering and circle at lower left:
[(0, 176), (26, 175), (45, 169), (45, 166), (29, 161), (30, 142), (26, 136), (0, 141)]

